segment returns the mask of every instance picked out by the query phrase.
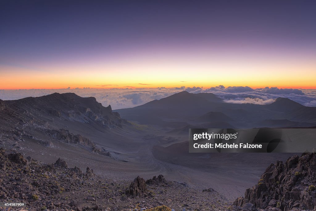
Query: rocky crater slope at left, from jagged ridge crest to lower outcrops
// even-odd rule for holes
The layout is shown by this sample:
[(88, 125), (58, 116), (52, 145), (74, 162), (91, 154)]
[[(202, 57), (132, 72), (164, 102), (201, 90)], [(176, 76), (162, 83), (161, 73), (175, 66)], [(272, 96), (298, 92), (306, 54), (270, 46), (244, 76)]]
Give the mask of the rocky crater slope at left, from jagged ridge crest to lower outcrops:
[(61, 142), (109, 156), (89, 138), (65, 128), (82, 127), (81, 131), (88, 131), (92, 126), (107, 131), (124, 124), (129, 123), (113, 112), (110, 105), (103, 107), (94, 97), (74, 93), (0, 100), (0, 146), (13, 146), (16, 150), (23, 150), (19, 143), (26, 140), (51, 148)]

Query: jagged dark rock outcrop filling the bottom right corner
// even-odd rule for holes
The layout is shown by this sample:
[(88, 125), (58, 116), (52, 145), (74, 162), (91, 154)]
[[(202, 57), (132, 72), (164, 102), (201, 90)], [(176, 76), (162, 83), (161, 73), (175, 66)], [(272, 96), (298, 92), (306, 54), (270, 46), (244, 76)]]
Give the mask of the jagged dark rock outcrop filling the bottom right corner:
[(246, 189), (235, 206), (251, 203), (257, 208), (275, 207), (287, 211), (316, 209), (316, 155), (295, 155), (285, 163), (277, 161), (265, 170), (258, 184)]

